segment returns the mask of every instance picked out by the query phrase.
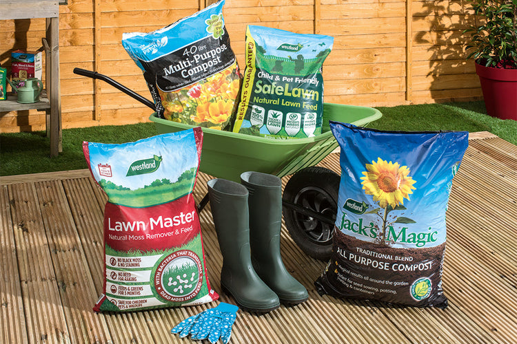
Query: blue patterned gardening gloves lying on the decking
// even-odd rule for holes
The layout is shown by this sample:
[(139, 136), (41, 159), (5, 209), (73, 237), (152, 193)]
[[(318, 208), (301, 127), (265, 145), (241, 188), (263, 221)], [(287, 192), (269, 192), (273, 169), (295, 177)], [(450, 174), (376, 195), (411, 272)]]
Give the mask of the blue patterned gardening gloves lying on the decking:
[(239, 308), (236, 305), (221, 302), (216, 308), (210, 308), (181, 321), (170, 332), (179, 333), (180, 338), (191, 334), (194, 341), (208, 337), (212, 344), (219, 341), (219, 338), (223, 343), (228, 343), (237, 310)]

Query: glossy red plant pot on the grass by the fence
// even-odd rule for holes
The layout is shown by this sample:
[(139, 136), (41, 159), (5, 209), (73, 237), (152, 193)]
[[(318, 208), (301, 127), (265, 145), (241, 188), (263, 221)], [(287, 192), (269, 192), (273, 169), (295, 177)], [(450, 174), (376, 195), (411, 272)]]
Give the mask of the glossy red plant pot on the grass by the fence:
[(517, 120), (517, 69), (485, 67), (476, 63), (487, 113), (503, 120)]

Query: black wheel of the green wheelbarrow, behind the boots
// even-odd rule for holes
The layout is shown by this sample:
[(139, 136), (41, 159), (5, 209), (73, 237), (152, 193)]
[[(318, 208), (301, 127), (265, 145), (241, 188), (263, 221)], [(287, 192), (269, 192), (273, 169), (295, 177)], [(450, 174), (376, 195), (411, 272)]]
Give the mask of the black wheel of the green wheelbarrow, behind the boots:
[(310, 257), (327, 260), (332, 253), (340, 176), (320, 166), (292, 175), (283, 191), (285, 226)]

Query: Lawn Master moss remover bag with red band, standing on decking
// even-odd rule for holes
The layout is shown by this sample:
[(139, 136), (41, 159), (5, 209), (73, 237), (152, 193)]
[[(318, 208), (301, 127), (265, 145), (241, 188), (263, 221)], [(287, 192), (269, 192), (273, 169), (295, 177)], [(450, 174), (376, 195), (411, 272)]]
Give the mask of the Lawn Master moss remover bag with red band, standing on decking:
[(196, 127), (125, 144), (83, 142), (104, 209), (104, 286), (94, 311), (216, 300), (192, 191), (203, 132)]

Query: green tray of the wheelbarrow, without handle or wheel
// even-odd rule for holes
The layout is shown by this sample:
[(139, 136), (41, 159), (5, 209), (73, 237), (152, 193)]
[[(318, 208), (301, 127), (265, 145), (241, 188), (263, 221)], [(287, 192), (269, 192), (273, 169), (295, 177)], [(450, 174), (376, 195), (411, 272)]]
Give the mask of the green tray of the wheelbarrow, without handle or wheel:
[[(270, 173), (282, 178), (318, 164), (338, 147), (329, 120), (365, 126), (381, 116), (380, 111), (371, 107), (324, 103), (321, 135), (287, 140), (203, 128), (199, 169), (213, 177), (235, 182), (240, 181), (240, 175), (245, 171)], [(192, 125), (158, 118), (156, 113), (149, 119), (155, 123), (159, 134), (192, 128)]]

